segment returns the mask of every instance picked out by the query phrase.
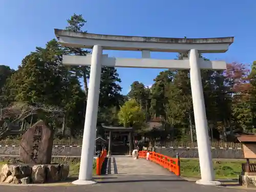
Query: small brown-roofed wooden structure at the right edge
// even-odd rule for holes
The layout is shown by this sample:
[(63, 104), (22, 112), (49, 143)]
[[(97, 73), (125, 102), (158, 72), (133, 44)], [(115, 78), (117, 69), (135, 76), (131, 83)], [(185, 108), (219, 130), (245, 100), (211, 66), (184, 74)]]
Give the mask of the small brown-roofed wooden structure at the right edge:
[(256, 173), (256, 163), (250, 163), (249, 159), (256, 159), (256, 135), (242, 135), (237, 138), (242, 143), (246, 163), (242, 163), (245, 173)]

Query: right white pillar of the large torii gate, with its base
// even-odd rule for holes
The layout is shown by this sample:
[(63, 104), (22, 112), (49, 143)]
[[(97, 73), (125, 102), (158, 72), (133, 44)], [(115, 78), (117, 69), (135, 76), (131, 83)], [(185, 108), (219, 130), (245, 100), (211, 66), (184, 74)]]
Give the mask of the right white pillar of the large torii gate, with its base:
[(215, 174), (212, 167), (208, 123), (205, 112), (203, 86), (198, 56), (199, 54), (197, 50), (192, 49), (189, 51), (190, 84), (195, 116), (198, 155), (200, 167), (203, 167), (203, 169), (200, 168), (201, 178), (203, 178), (203, 180), (198, 180), (197, 183), (207, 185), (220, 184), (214, 181)]

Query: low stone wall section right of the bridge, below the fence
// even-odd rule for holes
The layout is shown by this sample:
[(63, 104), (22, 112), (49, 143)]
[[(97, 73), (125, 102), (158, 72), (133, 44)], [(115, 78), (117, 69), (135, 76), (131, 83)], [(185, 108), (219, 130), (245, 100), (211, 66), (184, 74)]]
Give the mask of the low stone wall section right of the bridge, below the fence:
[[(167, 148), (156, 147), (156, 153), (166, 155), (168, 157), (176, 157), (178, 153), (181, 158), (198, 158), (197, 148)], [(241, 148), (211, 148), (211, 156), (213, 159), (243, 159), (243, 151)]]

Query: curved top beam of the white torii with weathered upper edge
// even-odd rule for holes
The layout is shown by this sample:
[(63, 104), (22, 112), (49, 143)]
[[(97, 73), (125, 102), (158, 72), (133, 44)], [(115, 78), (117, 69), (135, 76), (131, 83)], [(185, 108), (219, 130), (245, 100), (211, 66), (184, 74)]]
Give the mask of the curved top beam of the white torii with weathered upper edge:
[(187, 52), (196, 49), (200, 53), (224, 53), (234, 37), (220, 38), (165, 38), (101, 35), (54, 29), (60, 44), (65, 47), (93, 48), (102, 46), (105, 50)]

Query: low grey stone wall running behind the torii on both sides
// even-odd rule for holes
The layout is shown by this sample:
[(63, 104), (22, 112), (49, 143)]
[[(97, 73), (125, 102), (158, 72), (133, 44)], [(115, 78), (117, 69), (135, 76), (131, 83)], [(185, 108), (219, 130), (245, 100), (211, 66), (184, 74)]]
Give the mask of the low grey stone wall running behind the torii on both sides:
[[(169, 157), (175, 157), (176, 153), (181, 158), (198, 158), (197, 148), (169, 148), (156, 147), (155, 151)], [(241, 148), (212, 148), (212, 158), (243, 159)], [(18, 156), (19, 146), (0, 146), (0, 156)], [(80, 146), (54, 146), (52, 156), (80, 156)]]

